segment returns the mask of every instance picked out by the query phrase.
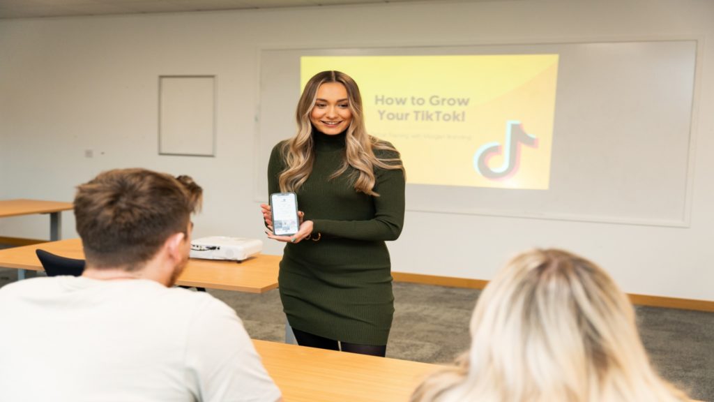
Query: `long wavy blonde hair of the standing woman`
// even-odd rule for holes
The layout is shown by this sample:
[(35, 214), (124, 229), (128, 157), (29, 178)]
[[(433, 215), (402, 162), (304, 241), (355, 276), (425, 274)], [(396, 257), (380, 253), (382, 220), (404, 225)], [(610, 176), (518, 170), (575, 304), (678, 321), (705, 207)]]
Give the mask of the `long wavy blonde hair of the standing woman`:
[[(352, 121), (347, 129), (346, 153), (341, 167), (333, 172), (331, 179), (342, 175), (348, 167), (353, 167), (352, 172), (354, 187), (358, 192), (378, 197), (373, 190), (375, 184), (374, 168), (388, 170), (404, 170), (399, 153), (386, 142), (367, 134), (364, 127), (362, 112), (362, 97), (357, 83), (343, 72), (325, 71), (315, 74), (303, 89), (303, 94), (298, 101), (296, 120), (297, 133), (283, 144), (282, 153), (286, 168), (278, 177), (280, 189), (283, 192), (298, 190), (308, 179), (315, 161), (315, 148), (312, 136), (313, 126), (310, 114), (317, 97), (318, 88), (326, 82), (339, 82), (347, 89), (348, 107), (352, 112)], [(396, 157), (382, 159), (374, 154), (376, 149), (391, 151)]]

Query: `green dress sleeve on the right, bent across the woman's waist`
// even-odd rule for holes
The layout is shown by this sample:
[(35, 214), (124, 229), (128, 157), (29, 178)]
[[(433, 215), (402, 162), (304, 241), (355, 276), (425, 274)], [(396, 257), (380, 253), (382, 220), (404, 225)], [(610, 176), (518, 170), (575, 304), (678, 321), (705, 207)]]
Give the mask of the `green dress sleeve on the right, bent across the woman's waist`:
[[(398, 158), (390, 152), (387, 157)], [(353, 240), (385, 241), (396, 240), (404, 225), (404, 172), (400, 169), (375, 170), (374, 191), (379, 197), (372, 197), (375, 207), (370, 220), (313, 220), (313, 233), (320, 232), (331, 237)]]

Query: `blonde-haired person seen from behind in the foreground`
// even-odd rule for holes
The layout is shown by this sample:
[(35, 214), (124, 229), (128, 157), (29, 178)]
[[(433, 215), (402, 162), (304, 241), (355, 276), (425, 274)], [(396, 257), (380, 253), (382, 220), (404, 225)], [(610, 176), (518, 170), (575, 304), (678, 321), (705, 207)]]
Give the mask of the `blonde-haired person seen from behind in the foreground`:
[(562, 250), (531, 250), (486, 286), (471, 350), (411, 401), (690, 401), (650, 366), (625, 294)]

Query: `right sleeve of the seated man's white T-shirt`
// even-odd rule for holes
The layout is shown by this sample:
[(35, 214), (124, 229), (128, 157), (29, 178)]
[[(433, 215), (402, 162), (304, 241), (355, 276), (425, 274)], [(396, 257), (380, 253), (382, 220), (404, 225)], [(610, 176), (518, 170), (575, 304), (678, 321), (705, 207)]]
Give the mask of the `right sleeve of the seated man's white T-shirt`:
[(205, 300), (188, 328), (188, 384), (197, 401), (279, 401), (236, 312), (219, 300)]

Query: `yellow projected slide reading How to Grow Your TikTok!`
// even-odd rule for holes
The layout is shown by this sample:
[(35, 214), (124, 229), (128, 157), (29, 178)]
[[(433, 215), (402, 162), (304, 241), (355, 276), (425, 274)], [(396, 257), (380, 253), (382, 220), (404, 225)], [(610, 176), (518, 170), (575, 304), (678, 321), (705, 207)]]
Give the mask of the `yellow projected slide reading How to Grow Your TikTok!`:
[(357, 82), (367, 132), (421, 185), (548, 188), (558, 54), (301, 57)]

